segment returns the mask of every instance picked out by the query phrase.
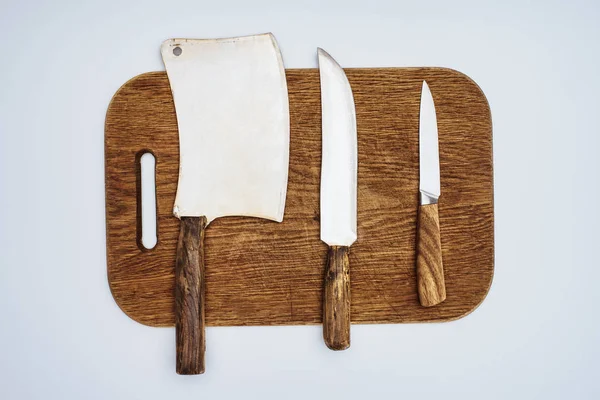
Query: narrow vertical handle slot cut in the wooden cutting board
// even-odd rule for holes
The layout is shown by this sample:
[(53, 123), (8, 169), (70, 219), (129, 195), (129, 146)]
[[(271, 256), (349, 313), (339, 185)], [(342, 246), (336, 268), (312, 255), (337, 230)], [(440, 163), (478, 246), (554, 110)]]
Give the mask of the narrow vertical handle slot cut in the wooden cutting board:
[(156, 158), (143, 150), (136, 157), (138, 170), (137, 240), (142, 250), (152, 250), (158, 242), (156, 219)]

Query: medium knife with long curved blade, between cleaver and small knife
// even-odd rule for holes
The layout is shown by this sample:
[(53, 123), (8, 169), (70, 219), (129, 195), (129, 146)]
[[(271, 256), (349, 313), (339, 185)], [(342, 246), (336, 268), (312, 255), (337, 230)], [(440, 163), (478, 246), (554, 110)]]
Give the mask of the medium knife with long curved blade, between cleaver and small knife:
[(323, 293), (323, 338), (350, 346), (349, 247), (356, 241), (357, 136), (354, 98), (344, 70), (318, 49), (321, 79), (321, 240), (329, 246)]

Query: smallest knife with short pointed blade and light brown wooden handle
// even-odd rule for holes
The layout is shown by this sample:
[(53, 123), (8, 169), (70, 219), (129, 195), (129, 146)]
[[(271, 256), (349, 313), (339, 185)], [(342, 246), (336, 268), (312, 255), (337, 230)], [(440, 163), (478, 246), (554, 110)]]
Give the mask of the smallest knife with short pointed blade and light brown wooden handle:
[(417, 284), (421, 305), (430, 307), (446, 299), (446, 285), (437, 204), (441, 194), (437, 117), (433, 97), (425, 81), (419, 115), (419, 191)]

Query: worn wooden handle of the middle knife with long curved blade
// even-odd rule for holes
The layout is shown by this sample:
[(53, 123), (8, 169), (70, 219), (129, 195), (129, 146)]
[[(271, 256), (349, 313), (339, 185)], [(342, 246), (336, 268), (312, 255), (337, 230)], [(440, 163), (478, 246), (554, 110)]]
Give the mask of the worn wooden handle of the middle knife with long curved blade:
[(323, 295), (323, 338), (332, 350), (350, 347), (350, 264), (347, 246), (330, 246)]

